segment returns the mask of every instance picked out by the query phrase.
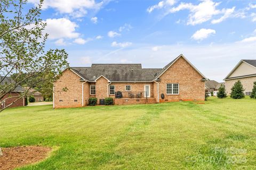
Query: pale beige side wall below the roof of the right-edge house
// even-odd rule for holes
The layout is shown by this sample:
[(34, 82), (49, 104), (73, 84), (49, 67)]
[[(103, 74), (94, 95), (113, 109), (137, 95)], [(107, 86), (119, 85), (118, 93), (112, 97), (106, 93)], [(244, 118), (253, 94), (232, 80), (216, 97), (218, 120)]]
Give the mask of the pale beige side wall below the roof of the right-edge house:
[(252, 91), (253, 82), (256, 81), (256, 77), (226, 80), (225, 86), (226, 86), (226, 91), (228, 95), (230, 95), (231, 88), (233, 87), (235, 82), (237, 82), (238, 80), (242, 82), (243, 87), (245, 89), (244, 92), (247, 92), (247, 91)]

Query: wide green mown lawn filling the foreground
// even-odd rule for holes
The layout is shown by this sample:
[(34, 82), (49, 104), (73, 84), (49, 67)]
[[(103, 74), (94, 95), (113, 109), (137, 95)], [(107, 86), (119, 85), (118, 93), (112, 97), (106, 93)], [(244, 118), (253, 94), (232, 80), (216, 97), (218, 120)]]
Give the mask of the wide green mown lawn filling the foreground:
[(0, 146), (50, 146), (20, 169), (256, 169), (256, 100), (0, 113)]

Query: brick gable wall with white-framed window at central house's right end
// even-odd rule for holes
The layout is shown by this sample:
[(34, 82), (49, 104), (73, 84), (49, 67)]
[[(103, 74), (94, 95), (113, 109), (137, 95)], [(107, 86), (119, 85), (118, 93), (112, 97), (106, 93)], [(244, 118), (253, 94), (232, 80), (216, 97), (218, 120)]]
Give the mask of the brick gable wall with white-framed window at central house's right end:
[[(204, 100), (205, 86), (203, 77), (182, 57), (180, 57), (160, 77), (159, 102), (178, 100)], [(179, 83), (179, 95), (166, 95), (166, 83)], [(165, 98), (161, 99), (161, 94)]]

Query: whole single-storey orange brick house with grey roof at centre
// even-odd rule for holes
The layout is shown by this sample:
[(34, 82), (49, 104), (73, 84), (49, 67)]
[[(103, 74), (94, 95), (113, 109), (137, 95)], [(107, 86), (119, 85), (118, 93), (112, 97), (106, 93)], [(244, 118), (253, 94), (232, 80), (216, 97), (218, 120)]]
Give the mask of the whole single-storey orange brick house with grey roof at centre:
[(204, 100), (205, 76), (182, 54), (163, 69), (141, 64), (92, 64), (65, 69), (54, 82), (53, 107), (82, 107), (90, 97), (115, 105)]

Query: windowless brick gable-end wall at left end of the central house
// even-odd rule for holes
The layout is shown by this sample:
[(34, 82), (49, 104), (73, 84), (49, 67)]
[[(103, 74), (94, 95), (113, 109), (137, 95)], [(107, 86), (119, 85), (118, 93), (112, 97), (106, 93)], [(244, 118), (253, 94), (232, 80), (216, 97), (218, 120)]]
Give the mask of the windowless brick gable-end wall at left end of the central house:
[[(82, 82), (83, 81), (80, 81), (80, 79), (81, 78), (78, 75), (76, 75), (73, 71), (67, 69), (62, 73), (62, 76), (60, 77), (60, 79), (54, 82), (55, 108), (82, 107)], [(85, 84), (86, 83), (84, 83), (84, 85)], [(65, 87), (68, 88), (67, 91), (62, 90)]]

